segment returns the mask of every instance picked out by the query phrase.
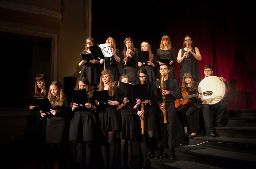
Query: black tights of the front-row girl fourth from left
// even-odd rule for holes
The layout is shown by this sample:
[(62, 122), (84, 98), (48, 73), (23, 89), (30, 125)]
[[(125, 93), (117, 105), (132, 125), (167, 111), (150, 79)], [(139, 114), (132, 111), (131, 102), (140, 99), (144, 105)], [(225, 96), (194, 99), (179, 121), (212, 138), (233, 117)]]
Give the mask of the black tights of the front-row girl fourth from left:
[[(116, 131), (102, 131), (102, 145), (101, 152), (104, 161), (104, 168), (113, 167), (114, 158), (115, 158), (115, 138)], [(109, 145), (109, 165), (108, 165), (108, 150), (107, 145)]]

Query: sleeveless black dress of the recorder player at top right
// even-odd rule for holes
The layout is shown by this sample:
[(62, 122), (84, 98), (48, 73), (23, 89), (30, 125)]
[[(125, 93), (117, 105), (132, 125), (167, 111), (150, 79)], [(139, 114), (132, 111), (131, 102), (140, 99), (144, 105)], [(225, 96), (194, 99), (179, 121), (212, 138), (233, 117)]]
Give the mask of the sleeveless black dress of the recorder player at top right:
[[(183, 56), (185, 52), (186, 51), (184, 50), (184, 48), (182, 48), (181, 56)], [(196, 53), (195, 48), (192, 49), (192, 52)], [(185, 73), (190, 73), (194, 81), (201, 80), (201, 75), (200, 75), (199, 67), (197, 64), (197, 60), (192, 54), (189, 54), (189, 57), (184, 58), (180, 63), (180, 77), (179, 77), (180, 82), (182, 81), (183, 75)]]

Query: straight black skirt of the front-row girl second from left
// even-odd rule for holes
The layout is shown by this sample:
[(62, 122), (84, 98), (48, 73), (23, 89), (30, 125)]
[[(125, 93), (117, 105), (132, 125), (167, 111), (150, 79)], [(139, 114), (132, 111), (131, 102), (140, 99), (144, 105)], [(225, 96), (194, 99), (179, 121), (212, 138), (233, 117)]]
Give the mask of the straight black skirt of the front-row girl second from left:
[(69, 123), (62, 117), (47, 119), (46, 143), (64, 143), (68, 141)]

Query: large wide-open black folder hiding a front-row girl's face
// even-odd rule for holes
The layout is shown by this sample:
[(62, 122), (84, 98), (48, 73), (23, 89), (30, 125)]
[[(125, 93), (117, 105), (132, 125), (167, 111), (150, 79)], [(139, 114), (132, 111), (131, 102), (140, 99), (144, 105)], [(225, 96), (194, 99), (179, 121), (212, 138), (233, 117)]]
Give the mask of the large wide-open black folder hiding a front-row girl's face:
[(120, 85), (120, 92), (119, 97), (120, 99), (124, 99), (127, 97), (129, 102), (135, 103), (136, 99), (140, 99), (141, 101), (147, 100), (148, 95), (148, 84), (129, 84), (119, 82)]

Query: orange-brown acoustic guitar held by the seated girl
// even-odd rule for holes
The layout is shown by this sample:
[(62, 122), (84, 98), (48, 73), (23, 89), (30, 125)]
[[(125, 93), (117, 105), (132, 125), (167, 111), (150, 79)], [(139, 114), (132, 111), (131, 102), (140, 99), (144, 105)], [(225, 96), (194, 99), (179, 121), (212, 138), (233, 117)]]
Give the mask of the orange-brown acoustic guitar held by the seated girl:
[(198, 97), (199, 94), (204, 95), (204, 96), (208, 96), (208, 95), (212, 95), (212, 91), (206, 91), (203, 93), (196, 93), (193, 95), (190, 95), (188, 92), (186, 91), (182, 91), (182, 99), (183, 101), (181, 102), (179, 99), (175, 100), (175, 108), (179, 107), (180, 105), (189, 105), (191, 100), (189, 98), (191, 97)]

